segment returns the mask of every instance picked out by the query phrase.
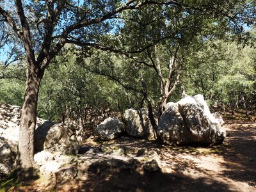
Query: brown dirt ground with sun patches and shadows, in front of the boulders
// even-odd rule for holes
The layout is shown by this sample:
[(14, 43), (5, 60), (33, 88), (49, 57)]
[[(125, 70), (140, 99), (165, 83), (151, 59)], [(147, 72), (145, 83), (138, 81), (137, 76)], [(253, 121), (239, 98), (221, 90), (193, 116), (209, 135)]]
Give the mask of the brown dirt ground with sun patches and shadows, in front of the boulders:
[[(156, 141), (119, 139), (109, 143), (87, 140), (84, 156), (90, 149), (122, 148), (134, 156), (138, 150), (154, 150), (161, 172), (143, 173), (140, 167), (123, 168), (120, 161), (109, 167), (111, 157), (92, 156), (100, 166), (89, 169), (86, 180), (58, 180), (56, 191), (256, 191), (256, 124), (228, 122), (228, 137), (223, 145), (207, 147), (170, 147)], [(110, 160), (109, 160), (110, 159)], [(102, 164), (104, 162), (105, 164)], [(113, 163), (113, 162), (112, 162)], [(134, 166), (134, 165), (132, 165)], [(106, 169), (111, 168), (111, 172)], [(47, 191), (38, 181), (12, 191)]]

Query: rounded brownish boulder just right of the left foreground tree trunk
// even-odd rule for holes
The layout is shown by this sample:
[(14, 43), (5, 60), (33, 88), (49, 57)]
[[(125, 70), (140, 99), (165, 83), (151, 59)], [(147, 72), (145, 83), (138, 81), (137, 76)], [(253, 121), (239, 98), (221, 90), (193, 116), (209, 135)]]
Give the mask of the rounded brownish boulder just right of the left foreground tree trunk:
[(35, 131), (35, 150), (38, 152), (47, 149), (63, 155), (76, 155), (81, 145), (76, 135), (79, 129), (82, 128), (70, 123), (45, 122)]

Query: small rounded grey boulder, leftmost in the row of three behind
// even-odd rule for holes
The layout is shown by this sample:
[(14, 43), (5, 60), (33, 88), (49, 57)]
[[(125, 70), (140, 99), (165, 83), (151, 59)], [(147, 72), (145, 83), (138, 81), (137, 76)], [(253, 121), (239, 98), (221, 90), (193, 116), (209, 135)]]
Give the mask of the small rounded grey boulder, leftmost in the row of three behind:
[(102, 140), (115, 140), (124, 135), (124, 124), (118, 118), (106, 118), (96, 129), (95, 134)]

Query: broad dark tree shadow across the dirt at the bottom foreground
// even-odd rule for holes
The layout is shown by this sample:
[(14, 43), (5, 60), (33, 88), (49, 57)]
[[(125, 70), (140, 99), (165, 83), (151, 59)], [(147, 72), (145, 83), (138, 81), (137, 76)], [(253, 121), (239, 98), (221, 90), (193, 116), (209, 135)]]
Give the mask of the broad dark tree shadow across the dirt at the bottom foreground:
[(88, 178), (70, 185), (58, 181), (56, 191), (228, 191), (228, 186), (209, 179), (170, 173), (145, 172), (139, 161), (109, 159), (92, 163)]

